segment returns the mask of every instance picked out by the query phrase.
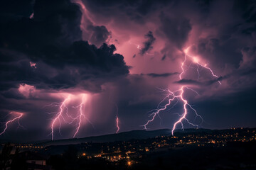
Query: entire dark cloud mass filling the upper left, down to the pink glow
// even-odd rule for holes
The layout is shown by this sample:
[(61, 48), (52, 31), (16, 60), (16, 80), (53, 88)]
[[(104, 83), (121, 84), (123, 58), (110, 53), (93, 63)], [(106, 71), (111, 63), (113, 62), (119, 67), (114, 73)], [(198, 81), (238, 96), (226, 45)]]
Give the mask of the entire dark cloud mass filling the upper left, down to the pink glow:
[[(28, 5), (31, 5), (28, 3)], [(82, 41), (80, 8), (68, 0), (36, 1), (34, 16), (16, 16), (0, 22), (1, 90), (30, 84), (36, 88), (68, 89), (86, 81), (100, 84), (129, 73), (124, 57), (114, 45), (100, 48)], [(26, 13), (28, 14), (28, 13)], [(5, 16), (6, 13), (1, 13)], [(110, 33), (105, 26), (91, 26), (90, 40), (99, 45)], [(30, 62), (36, 63), (36, 68)], [(111, 78), (111, 79), (110, 79)]]

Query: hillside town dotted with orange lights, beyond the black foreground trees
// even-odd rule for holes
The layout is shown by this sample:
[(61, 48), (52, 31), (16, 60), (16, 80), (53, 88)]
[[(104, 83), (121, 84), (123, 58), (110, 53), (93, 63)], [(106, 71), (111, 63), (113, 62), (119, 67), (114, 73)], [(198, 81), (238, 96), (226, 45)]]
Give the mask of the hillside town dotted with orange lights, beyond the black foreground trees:
[[(186, 130), (185, 130), (186, 131)], [(45, 146), (43, 144), (18, 144), (18, 143), (7, 143), (2, 144), (2, 154), (6, 147), (11, 149), (10, 156), (6, 162), (8, 163), (9, 169), (11, 167), (12, 158), (23, 157), (23, 161), (26, 162), (26, 167), (30, 169), (61, 169), (53, 162), (57, 162), (55, 159), (64, 159), (66, 154), (75, 155), (75, 159), (86, 160), (86, 162), (105, 162), (108, 164), (110, 169), (122, 166), (126, 168), (137, 169), (140, 164), (146, 164), (145, 162), (151, 159), (157, 159), (159, 164), (164, 164), (165, 158), (169, 157), (181, 157), (181, 153), (188, 156), (198, 155), (203, 150), (208, 150), (208, 154), (212, 154), (215, 157), (222, 157), (218, 155), (218, 152), (225, 152), (225, 154), (236, 154), (237, 157), (241, 154), (245, 154), (245, 151), (241, 148), (249, 148), (250, 151), (255, 151), (256, 146), (256, 128), (231, 128), (229, 130), (191, 130), (188, 132), (176, 132), (172, 135), (159, 135), (146, 139), (132, 139), (127, 141), (116, 141), (116, 142), (83, 142), (75, 145), (50, 145)], [(229, 148), (240, 148), (232, 149)], [(210, 149), (210, 152), (209, 152)], [(180, 153), (181, 152), (181, 153)], [(188, 153), (187, 153), (188, 152)], [(229, 152), (233, 152), (229, 153)], [(237, 153), (238, 152), (238, 153)], [(183, 155), (183, 157), (184, 157)], [(186, 159), (181, 157), (181, 159)], [(203, 156), (201, 154), (198, 158)], [(255, 158), (250, 153), (245, 157)], [(211, 157), (211, 156), (209, 156)], [(191, 158), (189, 158), (191, 159)], [(205, 159), (205, 158), (204, 158)], [(215, 158), (218, 159), (218, 158)], [(227, 162), (232, 162), (232, 159), (228, 159)], [(55, 160), (55, 161), (53, 161)], [(199, 159), (200, 160), (200, 159)], [(198, 160), (198, 161), (199, 161)], [(234, 159), (235, 160), (235, 159)], [(240, 159), (242, 160), (242, 159)], [(254, 159), (256, 160), (256, 159)], [(185, 164), (188, 162), (184, 161)], [(73, 162), (74, 163), (74, 162)], [(195, 162), (193, 162), (194, 164)], [(225, 162), (224, 162), (225, 163)], [(231, 168), (247, 168), (256, 169), (256, 162), (235, 162), (235, 165), (229, 165)], [(153, 164), (148, 162), (147, 164)], [(166, 166), (167, 163), (163, 165)], [(28, 166), (29, 165), (29, 166)], [(6, 164), (7, 166), (7, 164)], [(173, 168), (178, 168), (172, 165)], [(229, 167), (223, 163), (219, 163), (220, 169)], [(118, 169), (118, 168), (117, 168)]]

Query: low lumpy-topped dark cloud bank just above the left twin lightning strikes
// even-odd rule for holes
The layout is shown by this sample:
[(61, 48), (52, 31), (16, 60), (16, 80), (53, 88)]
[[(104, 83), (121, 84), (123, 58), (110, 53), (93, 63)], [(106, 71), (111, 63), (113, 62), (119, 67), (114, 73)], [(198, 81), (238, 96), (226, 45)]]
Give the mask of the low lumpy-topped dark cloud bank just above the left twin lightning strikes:
[[(27, 57), (7, 60), (10, 54), (1, 53), (1, 89), (16, 87), (26, 83), (38, 88), (67, 89), (86, 81), (97, 79), (95, 86), (100, 88), (104, 81), (129, 73), (124, 57), (114, 54), (115, 47), (102, 45), (99, 49), (88, 42), (74, 42), (67, 50), (59, 53), (48, 52), (45, 57), (37, 58), (36, 68), (31, 67)], [(21, 55), (12, 53), (11, 56)], [(101, 83), (100, 83), (101, 82)], [(92, 90), (92, 87), (86, 87)]]

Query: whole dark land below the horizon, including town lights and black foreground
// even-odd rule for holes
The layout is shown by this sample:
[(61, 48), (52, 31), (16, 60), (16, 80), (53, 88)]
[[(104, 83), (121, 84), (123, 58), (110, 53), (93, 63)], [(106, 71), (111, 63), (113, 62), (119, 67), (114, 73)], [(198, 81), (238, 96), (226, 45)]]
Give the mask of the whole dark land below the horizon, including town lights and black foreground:
[[(129, 135), (129, 134), (128, 134)], [(1, 169), (256, 169), (255, 129), (48, 147), (6, 143)]]

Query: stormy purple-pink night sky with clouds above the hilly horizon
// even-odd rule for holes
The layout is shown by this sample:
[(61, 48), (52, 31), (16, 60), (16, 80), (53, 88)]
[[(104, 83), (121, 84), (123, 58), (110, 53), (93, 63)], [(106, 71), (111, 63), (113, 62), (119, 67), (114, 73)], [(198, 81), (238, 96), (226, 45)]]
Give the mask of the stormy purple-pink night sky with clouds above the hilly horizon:
[(4, 0), (0, 64), (0, 140), (143, 130), (181, 86), (198, 128), (256, 127), (255, 1)]

